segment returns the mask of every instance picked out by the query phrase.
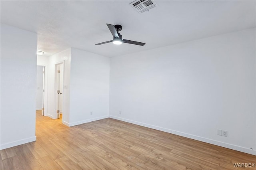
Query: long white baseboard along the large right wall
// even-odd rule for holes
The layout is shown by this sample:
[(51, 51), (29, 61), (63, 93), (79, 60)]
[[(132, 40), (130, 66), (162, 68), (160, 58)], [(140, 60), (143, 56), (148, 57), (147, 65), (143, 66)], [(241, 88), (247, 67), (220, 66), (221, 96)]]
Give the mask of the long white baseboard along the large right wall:
[(149, 124), (146, 124), (146, 123), (132, 121), (132, 120), (124, 119), (124, 118), (121, 118), (121, 117), (116, 117), (116, 116), (111, 116), (111, 115), (109, 117), (112, 118), (112, 119), (117, 119), (117, 120), (120, 120), (120, 121), (132, 123), (132, 124), (135, 124), (135, 125), (140, 125), (140, 126), (143, 126), (143, 127), (153, 128), (153, 129), (156, 129), (156, 130), (161, 130), (161, 131), (176, 134), (176, 135), (179, 135), (179, 136), (184, 136), (184, 137), (191, 138), (191, 139), (194, 139), (194, 140), (199, 140), (199, 141), (214, 144), (214, 145), (217, 145), (217, 146), (222, 146), (224, 148), (229, 148), (229, 149), (237, 150), (237, 151), (240, 151), (240, 152), (245, 152), (245, 153), (248, 153), (248, 154), (256, 155), (256, 150), (251, 150), (250, 148), (244, 148), (242, 146), (237, 146), (237, 145), (234, 145), (234, 144), (220, 142), (220, 141), (217, 141), (217, 140), (212, 140), (212, 139), (209, 139), (209, 138), (204, 138), (204, 137), (196, 136), (196, 135), (193, 135), (193, 134), (179, 132), (179, 131), (171, 130), (171, 129), (168, 129), (168, 128), (163, 128), (163, 127), (158, 127), (158, 126), (154, 126), (154, 125), (149, 125)]

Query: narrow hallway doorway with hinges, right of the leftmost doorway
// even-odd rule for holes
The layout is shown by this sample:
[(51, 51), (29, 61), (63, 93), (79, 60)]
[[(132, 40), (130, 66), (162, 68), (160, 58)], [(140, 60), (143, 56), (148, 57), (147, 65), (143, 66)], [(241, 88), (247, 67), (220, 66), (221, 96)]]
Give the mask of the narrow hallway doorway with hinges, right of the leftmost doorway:
[(57, 118), (63, 116), (64, 63), (55, 65), (56, 113)]

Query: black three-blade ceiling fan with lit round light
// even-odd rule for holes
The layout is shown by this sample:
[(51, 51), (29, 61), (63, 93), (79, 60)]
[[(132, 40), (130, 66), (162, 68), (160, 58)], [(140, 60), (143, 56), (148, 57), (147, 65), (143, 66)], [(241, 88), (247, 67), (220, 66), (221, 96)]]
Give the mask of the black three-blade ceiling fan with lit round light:
[(107, 41), (107, 42), (102, 42), (102, 43), (96, 43), (95, 45), (102, 45), (104, 43), (110, 43), (113, 42), (114, 44), (122, 44), (122, 43), (130, 43), (130, 44), (134, 44), (134, 45), (145, 45), (145, 43), (142, 42), (135, 42), (132, 40), (125, 40), (122, 39), (122, 35), (119, 34), (119, 32), (122, 30), (122, 26), (120, 25), (111, 25), (111, 24), (107, 24), (108, 29), (110, 30), (111, 34), (113, 35), (113, 40)]

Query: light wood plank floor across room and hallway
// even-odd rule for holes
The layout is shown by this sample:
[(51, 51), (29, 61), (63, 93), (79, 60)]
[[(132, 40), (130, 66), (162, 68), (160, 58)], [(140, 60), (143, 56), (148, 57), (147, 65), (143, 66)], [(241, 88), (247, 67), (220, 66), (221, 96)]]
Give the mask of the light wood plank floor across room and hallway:
[(225, 170), (256, 163), (250, 154), (110, 118), (66, 127), (37, 111), (36, 137), (1, 150), (1, 170)]

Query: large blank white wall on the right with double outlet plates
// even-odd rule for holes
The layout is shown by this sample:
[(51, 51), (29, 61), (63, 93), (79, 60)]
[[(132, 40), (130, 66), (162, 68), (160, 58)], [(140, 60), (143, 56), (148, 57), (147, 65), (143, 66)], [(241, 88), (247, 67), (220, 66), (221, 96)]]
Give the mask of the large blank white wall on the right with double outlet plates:
[(242, 30), (111, 58), (110, 117), (256, 154), (255, 37)]

